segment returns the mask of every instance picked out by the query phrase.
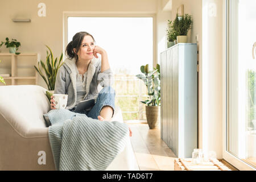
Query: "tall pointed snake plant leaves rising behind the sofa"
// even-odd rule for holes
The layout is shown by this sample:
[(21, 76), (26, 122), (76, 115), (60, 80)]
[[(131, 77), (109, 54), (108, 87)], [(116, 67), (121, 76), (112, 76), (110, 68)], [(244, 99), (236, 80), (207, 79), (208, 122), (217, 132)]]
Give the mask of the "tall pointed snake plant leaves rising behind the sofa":
[[(48, 90), (54, 90), (57, 71), (63, 64), (63, 63), (61, 63), (61, 61), (63, 59), (63, 53), (61, 53), (59, 60), (57, 60), (57, 57), (54, 59), (51, 48), (49, 48), (48, 46), (46, 46), (46, 47), (49, 49), (49, 52), (46, 51), (47, 52), (46, 64), (44, 64), (43, 61), (40, 60), (40, 62), (38, 62), (38, 68), (36, 68), (35, 66), (34, 67), (35, 67), (36, 71), (38, 71), (40, 76), (42, 76), (43, 80), (46, 82)], [(43, 72), (41, 71), (40, 65), (43, 68), (43, 71), (45, 72), (46, 77), (44, 76)]]

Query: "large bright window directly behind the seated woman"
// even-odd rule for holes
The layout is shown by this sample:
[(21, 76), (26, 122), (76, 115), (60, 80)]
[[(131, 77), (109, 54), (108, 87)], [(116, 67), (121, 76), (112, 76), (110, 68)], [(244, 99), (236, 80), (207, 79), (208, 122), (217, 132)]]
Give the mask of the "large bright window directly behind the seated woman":
[(79, 31), (93, 35), (96, 45), (108, 52), (114, 73), (115, 104), (124, 120), (146, 119), (147, 88), (135, 75), (141, 65), (153, 63), (152, 17), (68, 17), (68, 42)]

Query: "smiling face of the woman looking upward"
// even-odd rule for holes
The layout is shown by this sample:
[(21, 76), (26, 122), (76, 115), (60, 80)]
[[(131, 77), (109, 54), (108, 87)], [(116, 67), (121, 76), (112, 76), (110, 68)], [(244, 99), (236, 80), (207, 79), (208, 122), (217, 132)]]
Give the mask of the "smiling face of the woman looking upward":
[(82, 40), (79, 52), (77, 55), (80, 60), (91, 60), (93, 59), (93, 50), (94, 50), (93, 38), (90, 35), (85, 35), (84, 40)]

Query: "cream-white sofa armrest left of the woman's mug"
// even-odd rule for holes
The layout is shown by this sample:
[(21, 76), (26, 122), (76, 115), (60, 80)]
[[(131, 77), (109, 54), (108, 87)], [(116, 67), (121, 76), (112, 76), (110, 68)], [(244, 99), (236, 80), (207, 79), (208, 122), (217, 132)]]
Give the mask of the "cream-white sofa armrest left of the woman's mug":
[[(43, 114), (50, 109), (46, 89), (37, 85), (0, 86), (0, 122), (8, 122), (22, 137), (35, 133), (45, 133)], [(3, 121), (2, 121), (3, 120)], [(44, 135), (44, 134), (43, 134)]]

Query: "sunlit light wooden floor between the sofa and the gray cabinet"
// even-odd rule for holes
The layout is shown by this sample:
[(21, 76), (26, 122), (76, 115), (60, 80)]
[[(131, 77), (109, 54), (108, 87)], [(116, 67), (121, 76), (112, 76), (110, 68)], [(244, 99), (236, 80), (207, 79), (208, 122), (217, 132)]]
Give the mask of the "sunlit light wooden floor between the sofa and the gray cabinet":
[(174, 152), (163, 142), (160, 128), (150, 130), (147, 123), (127, 123), (133, 132), (131, 144), (141, 171), (173, 171)]

